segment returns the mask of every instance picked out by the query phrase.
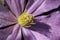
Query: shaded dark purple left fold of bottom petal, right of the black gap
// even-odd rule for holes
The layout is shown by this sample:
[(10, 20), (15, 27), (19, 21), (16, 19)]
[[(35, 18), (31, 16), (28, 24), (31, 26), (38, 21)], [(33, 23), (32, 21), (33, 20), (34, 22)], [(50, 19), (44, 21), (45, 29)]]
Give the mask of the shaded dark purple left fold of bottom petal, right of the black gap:
[(22, 28), (22, 33), (23, 33), (24, 40), (36, 40), (35, 36), (31, 33), (30, 30)]

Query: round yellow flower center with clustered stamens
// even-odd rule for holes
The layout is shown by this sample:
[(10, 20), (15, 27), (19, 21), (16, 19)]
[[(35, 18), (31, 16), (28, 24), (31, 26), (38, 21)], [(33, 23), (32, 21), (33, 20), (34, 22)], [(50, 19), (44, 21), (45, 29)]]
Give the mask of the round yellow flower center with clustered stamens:
[(24, 11), (19, 17), (18, 17), (18, 24), (21, 26), (29, 26), (30, 23), (33, 23), (34, 16), (32, 14), (27, 14), (26, 11)]

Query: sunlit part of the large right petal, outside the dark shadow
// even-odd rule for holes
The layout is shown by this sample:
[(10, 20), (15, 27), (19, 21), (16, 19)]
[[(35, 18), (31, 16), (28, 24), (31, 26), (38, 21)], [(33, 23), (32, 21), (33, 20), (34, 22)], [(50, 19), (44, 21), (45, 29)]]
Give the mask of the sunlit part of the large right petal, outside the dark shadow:
[[(39, 19), (37, 18), (37, 20)], [(51, 40), (60, 39), (60, 11), (54, 12), (49, 16), (43, 17), (42, 19), (39, 20), (39, 22), (43, 22), (50, 26), (51, 29), (49, 31), (51, 33), (49, 37)]]

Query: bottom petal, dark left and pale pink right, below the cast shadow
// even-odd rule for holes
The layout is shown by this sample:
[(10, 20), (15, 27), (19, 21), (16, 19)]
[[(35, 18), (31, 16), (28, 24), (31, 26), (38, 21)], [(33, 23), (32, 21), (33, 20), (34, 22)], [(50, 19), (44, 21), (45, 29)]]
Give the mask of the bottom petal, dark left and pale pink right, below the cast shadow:
[(49, 40), (44, 35), (26, 28), (23, 28), (23, 37), (24, 40)]

